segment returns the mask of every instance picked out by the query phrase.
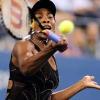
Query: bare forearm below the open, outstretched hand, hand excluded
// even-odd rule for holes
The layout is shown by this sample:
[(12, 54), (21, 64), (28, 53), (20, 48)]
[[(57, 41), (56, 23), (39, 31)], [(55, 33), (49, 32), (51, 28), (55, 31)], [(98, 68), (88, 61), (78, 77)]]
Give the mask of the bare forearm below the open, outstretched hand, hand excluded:
[(51, 100), (69, 100), (72, 96), (85, 89), (82, 81), (77, 82), (69, 88), (55, 92), (51, 96)]

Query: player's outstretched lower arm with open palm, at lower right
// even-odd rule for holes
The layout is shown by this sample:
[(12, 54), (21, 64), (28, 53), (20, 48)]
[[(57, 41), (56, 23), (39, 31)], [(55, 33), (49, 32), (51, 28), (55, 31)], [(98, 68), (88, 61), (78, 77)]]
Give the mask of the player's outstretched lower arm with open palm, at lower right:
[(96, 88), (100, 90), (100, 85), (94, 81), (94, 76), (84, 76), (76, 84), (64, 90), (55, 92), (51, 95), (51, 100), (69, 100), (72, 96), (79, 93), (85, 88)]

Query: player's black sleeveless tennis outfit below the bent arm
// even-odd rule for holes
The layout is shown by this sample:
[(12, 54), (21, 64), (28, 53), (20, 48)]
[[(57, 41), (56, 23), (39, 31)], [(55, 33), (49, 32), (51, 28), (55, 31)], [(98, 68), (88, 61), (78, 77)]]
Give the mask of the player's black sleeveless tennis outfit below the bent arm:
[(52, 94), (52, 89), (58, 86), (58, 71), (54, 71), (48, 62), (32, 76), (24, 76), (12, 61), (10, 61), (9, 67), (9, 79), (14, 84), (8, 90), (6, 100), (48, 100)]

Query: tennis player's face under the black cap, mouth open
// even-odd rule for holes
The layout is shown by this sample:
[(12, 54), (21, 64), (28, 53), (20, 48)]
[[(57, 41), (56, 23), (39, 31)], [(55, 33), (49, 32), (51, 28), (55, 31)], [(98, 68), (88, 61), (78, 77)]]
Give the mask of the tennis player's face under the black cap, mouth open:
[[(49, 29), (54, 31), (55, 30), (55, 18), (53, 14), (45, 8), (41, 8), (35, 12), (36, 18), (40, 21), (41, 25), (44, 27), (44, 29)], [(35, 22), (34, 25), (35, 30), (41, 30), (38, 23)]]

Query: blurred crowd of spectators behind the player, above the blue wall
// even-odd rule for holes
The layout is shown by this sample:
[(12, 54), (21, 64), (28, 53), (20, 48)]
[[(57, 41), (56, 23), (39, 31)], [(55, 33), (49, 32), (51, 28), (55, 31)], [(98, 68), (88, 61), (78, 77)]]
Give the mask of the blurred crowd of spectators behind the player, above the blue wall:
[[(56, 33), (59, 33), (58, 25), (62, 20), (72, 20), (75, 24), (74, 31), (66, 35), (68, 50), (61, 55), (100, 58), (100, 0), (52, 1), (57, 7)], [(0, 25), (0, 50), (11, 50), (15, 42)]]

